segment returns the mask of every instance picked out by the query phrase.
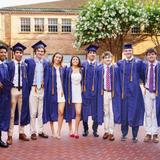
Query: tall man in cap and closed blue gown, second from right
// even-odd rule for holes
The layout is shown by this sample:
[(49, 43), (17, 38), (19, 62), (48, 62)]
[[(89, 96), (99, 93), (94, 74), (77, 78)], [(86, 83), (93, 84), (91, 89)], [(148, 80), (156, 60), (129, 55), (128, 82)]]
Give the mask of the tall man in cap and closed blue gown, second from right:
[(142, 76), (142, 61), (133, 57), (131, 44), (123, 47), (125, 59), (117, 62), (120, 69), (120, 82), (122, 86), (121, 107), (121, 140), (125, 141), (129, 126), (132, 127), (132, 141), (137, 142), (139, 126), (144, 120), (144, 100), (140, 88)]

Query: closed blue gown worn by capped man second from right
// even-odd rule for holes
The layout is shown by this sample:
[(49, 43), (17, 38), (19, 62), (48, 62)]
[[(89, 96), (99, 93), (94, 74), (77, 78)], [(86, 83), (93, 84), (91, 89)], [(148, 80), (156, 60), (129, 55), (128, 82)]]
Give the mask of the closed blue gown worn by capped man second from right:
[(140, 88), (142, 61), (133, 58), (130, 62), (120, 60), (117, 64), (122, 85), (121, 124), (131, 127), (143, 125), (144, 99)]

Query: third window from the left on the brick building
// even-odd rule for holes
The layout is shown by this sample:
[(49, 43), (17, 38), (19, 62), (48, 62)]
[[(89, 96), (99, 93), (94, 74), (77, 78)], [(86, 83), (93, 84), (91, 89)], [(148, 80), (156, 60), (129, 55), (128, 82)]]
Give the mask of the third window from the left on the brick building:
[(48, 32), (58, 32), (57, 18), (48, 18)]

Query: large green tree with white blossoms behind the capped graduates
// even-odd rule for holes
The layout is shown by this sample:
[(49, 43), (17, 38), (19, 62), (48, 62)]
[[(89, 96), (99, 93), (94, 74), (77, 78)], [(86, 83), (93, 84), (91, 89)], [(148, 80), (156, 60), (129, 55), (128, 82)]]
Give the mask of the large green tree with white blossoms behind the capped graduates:
[(135, 0), (90, 0), (76, 25), (76, 46), (96, 43), (119, 59), (131, 27), (147, 21), (143, 4)]

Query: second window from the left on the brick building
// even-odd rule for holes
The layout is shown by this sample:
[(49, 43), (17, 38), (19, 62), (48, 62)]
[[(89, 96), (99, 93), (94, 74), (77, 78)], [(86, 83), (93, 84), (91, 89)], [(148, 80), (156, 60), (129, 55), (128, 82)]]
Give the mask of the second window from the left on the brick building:
[(44, 18), (35, 18), (35, 32), (44, 32)]

